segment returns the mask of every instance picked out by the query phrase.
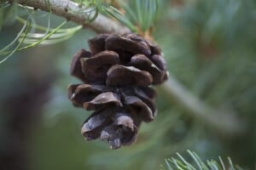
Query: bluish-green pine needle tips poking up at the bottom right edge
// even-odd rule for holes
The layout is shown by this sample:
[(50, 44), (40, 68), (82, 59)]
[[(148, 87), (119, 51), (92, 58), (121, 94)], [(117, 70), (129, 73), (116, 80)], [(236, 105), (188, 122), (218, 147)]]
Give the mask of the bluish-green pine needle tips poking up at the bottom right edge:
[(193, 151), (188, 150), (189, 156), (192, 158), (192, 163), (189, 163), (183, 156), (177, 153), (177, 158), (167, 158), (166, 167), (161, 166), (160, 170), (242, 170), (239, 166), (234, 166), (230, 157), (228, 157), (229, 165), (224, 165), (224, 161), (218, 156), (218, 161), (202, 161), (199, 156)]

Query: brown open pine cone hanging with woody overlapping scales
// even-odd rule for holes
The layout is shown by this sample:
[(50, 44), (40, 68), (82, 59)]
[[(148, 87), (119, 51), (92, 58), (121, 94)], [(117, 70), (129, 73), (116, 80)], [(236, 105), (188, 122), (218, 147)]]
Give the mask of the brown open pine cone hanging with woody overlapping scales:
[(87, 140), (107, 140), (113, 149), (135, 142), (141, 122), (156, 116), (151, 84), (167, 79), (160, 48), (135, 34), (102, 34), (89, 40), (90, 52), (74, 54), (70, 72), (83, 84), (70, 85), (73, 105), (95, 111), (84, 122)]

